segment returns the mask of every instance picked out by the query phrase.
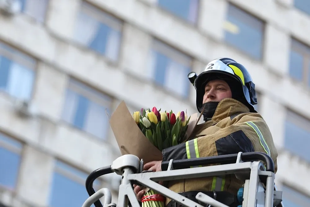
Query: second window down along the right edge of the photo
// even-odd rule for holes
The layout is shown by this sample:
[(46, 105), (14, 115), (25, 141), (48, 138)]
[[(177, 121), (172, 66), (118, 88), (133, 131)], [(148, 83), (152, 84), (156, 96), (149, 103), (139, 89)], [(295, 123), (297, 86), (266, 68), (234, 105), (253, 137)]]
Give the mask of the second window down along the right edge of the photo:
[(310, 87), (310, 47), (292, 39), (290, 76)]

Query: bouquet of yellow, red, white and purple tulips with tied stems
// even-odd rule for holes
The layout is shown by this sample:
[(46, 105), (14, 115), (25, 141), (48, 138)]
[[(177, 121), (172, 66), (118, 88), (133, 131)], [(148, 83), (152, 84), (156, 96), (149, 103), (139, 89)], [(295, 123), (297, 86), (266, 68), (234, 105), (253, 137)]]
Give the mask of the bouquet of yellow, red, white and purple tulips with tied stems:
[[(184, 111), (175, 115), (172, 111), (167, 113), (160, 110), (156, 107), (152, 110), (142, 108), (133, 113), (133, 119), (146, 138), (161, 151), (186, 140), (190, 117)], [(142, 207), (164, 207), (164, 196), (150, 189), (142, 198)]]

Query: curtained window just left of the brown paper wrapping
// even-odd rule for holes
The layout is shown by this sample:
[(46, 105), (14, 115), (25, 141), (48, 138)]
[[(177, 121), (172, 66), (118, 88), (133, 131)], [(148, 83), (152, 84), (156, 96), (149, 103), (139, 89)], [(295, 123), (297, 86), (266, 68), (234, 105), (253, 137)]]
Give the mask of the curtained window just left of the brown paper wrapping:
[(65, 96), (62, 117), (83, 131), (106, 139), (109, 120), (106, 115), (112, 99), (87, 85), (71, 79)]

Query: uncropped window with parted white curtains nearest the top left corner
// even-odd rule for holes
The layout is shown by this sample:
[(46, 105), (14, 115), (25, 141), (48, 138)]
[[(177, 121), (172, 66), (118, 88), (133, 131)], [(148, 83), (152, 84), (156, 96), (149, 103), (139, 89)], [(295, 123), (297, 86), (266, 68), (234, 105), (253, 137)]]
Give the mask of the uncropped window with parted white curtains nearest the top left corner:
[(119, 56), (122, 22), (83, 2), (74, 29), (74, 40), (112, 61)]

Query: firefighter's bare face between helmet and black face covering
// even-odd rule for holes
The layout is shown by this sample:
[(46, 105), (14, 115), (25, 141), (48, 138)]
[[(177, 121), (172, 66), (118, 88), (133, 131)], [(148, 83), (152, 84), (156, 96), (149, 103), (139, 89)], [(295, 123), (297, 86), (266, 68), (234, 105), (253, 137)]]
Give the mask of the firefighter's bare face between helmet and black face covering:
[(231, 98), (229, 85), (223, 80), (212, 80), (204, 87), (203, 104), (209, 101), (221, 101)]

